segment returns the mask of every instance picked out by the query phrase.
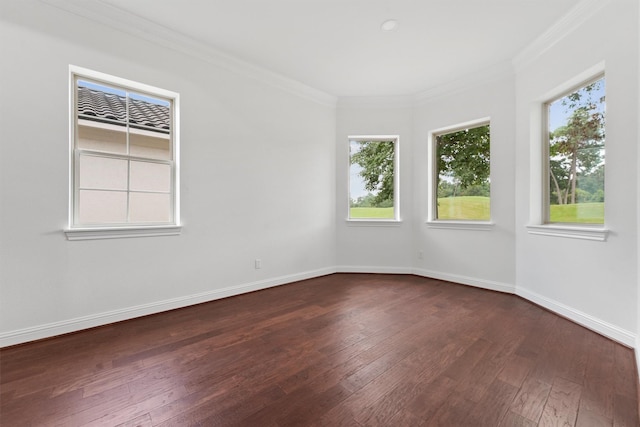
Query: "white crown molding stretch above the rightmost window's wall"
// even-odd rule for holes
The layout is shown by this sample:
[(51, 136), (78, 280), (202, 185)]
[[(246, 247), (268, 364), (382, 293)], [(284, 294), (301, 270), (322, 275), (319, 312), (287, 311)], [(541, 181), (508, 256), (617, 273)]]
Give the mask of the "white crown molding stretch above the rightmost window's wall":
[(528, 67), (609, 3), (611, 0), (582, 0), (513, 58), (515, 71)]

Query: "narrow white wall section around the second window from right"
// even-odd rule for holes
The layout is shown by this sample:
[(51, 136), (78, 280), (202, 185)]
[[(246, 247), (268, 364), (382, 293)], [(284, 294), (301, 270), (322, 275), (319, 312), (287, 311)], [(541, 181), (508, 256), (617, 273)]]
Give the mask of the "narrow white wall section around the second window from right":
[[(514, 227), (514, 78), (494, 70), (483, 81), (450, 95), (422, 101), (414, 113), (415, 233), (413, 255), (421, 275), (513, 292)], [(491, 125), (490, 230), (436, 229), (426, 224), (430, 133), (489, 117)], [(423, 257), (417, 254), (422, 251)]]

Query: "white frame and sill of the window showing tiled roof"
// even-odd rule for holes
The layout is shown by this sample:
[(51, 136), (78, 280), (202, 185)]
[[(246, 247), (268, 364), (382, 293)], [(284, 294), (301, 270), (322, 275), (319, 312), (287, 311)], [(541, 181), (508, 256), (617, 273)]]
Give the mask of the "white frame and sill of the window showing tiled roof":
[[(77, 173), (77, 156), (81, 151), (76, 147), (76, 132), (78, 129), (78, 118), (76, 112), (77, 104), (77, 80), (87, 80), (98, 84), (116, 87), (126, 91), (133, 91), (157, 97), (169, 101), (172, 104), (172, 123), (170, 130), (171, 158), (169, 161), (161, 162), (171, 166), (171, 202), (172, 219), (167, 223), (123, 223), (123, 224), (91, 224), (79, 223), (78, 201), (79, 177)], [(180, 223), (180, 122), (179, 108), (180, 95), (176, 92), (150, 86), (144, 83), (115, 77), (109, 74), (90, 70), (87, 68), (69, 66), (69, 218), (67, 228), (64, 230), (68, 240), (88, 240), (88, 239), (113, 239), (124, 237), (150, 237), (178, 235), (181, 232)], [(106, 157), (110, 155), (107, 154)], [(122, 156), (120, 156), (122, 157)], [(132, 156), (124, 156), (134, 158)]]

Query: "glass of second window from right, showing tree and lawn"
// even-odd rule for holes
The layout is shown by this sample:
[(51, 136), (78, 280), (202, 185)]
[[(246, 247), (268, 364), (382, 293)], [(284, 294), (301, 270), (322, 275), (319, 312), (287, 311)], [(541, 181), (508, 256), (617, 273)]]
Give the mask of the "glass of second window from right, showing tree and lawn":
[(491, 132), (488, 122), (433, 135), (433, 219), (491, 219)]

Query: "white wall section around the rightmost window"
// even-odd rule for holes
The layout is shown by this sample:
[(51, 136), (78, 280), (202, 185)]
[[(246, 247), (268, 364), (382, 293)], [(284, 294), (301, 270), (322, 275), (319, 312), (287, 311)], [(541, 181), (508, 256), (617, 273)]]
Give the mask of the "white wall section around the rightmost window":
[[(597, 2), (596, 2), (597, 3)], [(595, 5), (596, 3), (591, 2)], [(522, 58), (516, 79), (516, 282), (518, 293), (634, 345), (638, 330), (638, 11), (637, 2), (601, 10), (549, 49)], [(531, 187), (536, 141), (531, 109), (541, 97), (605, 62), (607, 84), (606, 242), (527, 233), (538, 200)], [(532, 147), (534, 147), (532, 149)], [(532, 154), (533, 153), (533, 154)], [(533, 199), (533, 200), (532, 200)]]

